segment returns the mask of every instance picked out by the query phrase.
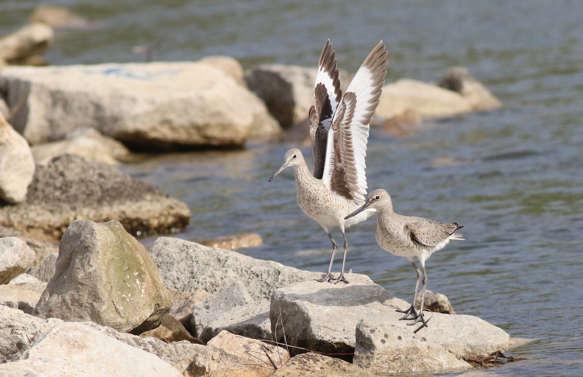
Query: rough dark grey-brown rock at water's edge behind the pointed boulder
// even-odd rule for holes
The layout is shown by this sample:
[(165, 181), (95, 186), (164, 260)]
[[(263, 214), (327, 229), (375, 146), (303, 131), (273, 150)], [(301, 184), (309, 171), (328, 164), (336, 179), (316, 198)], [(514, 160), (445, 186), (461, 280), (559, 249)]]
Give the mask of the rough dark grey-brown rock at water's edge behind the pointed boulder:
[(80, 218), (115, 219), (132, 234), (142, 235), (184, 228), (190, 210), (115, 167), (70, 154), (37, 167), (26, 202), (0, 208), (0, 225), (55, 241)]

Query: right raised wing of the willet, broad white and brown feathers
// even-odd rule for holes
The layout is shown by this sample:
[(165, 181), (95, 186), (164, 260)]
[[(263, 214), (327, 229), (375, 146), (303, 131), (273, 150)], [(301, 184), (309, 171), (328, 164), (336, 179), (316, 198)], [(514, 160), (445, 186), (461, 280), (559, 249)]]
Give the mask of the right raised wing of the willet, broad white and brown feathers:
[(333, 114), (333, 149), (326, 149), (322, 180), (332, 191), (365, 202), (364, 169), (368, 128), (387, 75), (387, 51), (380, 41), (354, 75)]

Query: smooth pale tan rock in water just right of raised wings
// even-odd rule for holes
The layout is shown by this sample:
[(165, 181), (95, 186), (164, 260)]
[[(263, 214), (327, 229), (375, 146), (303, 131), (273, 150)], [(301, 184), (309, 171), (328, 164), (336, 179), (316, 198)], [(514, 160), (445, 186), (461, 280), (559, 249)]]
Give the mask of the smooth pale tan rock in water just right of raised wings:
[(447, 118), (472, 111), (469, 102), (454, 91), (411, 79), (382, 87), (378, 117), (392, 118), (413, 110), (423, 118)]

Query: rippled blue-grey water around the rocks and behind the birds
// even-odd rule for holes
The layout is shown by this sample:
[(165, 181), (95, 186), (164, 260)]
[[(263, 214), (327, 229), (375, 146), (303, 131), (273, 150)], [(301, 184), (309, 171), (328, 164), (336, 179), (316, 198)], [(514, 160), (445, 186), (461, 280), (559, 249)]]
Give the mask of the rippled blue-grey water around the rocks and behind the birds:
[[(513, 337), (539, 339), (512, 352), (529, 357), (500, 375), (583, 375), (583, 11), (575, 1), (56, 1), (94, 29), (59, 30), (52, 64), (140, 61), (133, 45), (162, 37), (154, 58), (225, 54), (259, 63), (314, 66), (327, 38), (339, 66), (355, 71), (378, 39), (389, 50), (387, 81), (433, 80), (452, 65), (504, 102), (501, 110), (426, 122), (392, 138), (371, 131), (367, 176), (403, 214), (459, 221), (466, 241), (427, 262), (429, 289), (458, 313)], [(36, 1), (2, 1), (0, 33)], [(5, 10), (5, 11), (4, 11)], [(188, 203), (178, 237), (258, 232), (264, 246), (241, 251), (323, 271), (329, 241), (295, 202), (293, 174), (268, 182), (292, 145), (154, 156), (123, 169)], [(309, 154), (309, 150), (304, 149)], [(448, 157), (451, 165), (435, 167)], [(446, 159), (447, 160), (447, 159)], [(371, 219), (347, 231), (347, 267), (410, 300), (409, 262), (382, 251)], [(336, 230), (336, 239), (341, 237)], [(145, 240), (150, 242), (151, 240)], [(335, 270), (340, 267), (340, 258)], [(451, 374), (440, 374), (451, 375)]]

